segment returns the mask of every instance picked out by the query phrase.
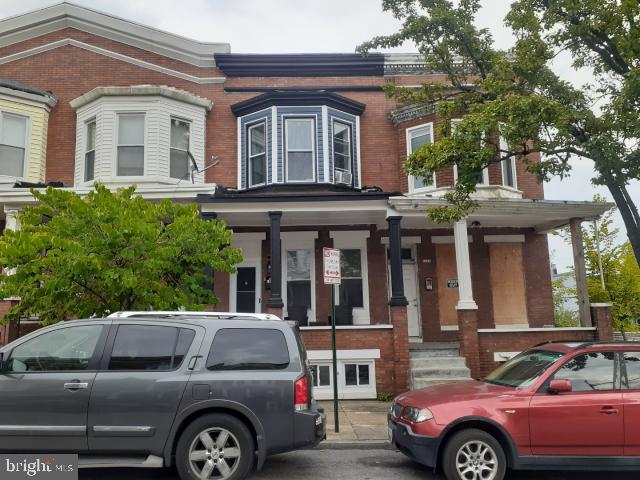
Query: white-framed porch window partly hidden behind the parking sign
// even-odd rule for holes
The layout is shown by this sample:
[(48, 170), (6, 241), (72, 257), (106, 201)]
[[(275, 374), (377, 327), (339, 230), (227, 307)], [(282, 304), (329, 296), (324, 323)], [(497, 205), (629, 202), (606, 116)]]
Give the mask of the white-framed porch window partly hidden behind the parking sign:
[[(371, 323), (369, 317), (369, 269), (367, 259), (368, 230), (330, 232), (333, 247), (340, 249), (342, 284), (336, 289), (336, 321), (352, 317), (354, 325)], [(345, 310), (346, 309), (346, 310)]]

